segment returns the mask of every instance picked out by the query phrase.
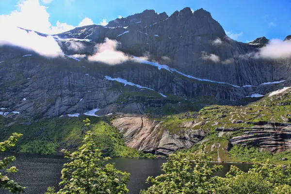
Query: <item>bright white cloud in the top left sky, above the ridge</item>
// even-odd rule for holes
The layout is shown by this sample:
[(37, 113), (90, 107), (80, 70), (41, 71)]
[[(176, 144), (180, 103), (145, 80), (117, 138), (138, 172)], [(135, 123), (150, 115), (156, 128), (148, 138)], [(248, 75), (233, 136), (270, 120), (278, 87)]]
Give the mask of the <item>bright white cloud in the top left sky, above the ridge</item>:
[[(42, 0), (49, 2), (49, 0)], [(0, 28), (5, 29), (7, 26), (21, 27), (28, 30), (42, 32), (46, 34), (56, 34), (66, 32), (75, 28), (75, 26), (57, 21), (53, 26), (49, 22), (49, 13), (47, 7), (40, 5), (39, 0), (20, 0), (17, 10), (10, 15), (0, 15)], [(90, 18), (84, 18), (79, 25), (93, 23)]]

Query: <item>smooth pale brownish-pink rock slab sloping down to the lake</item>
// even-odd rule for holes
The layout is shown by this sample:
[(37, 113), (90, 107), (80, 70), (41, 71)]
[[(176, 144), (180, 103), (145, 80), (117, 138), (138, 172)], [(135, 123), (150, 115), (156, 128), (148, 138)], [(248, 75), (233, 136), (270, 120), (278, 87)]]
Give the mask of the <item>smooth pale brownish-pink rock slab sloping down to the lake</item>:
[(127, 146), (155, 154), (169, 155), (180, 148), (189, 148), (202, 140), (207, 132), (203, 130), (180, 130), (172, 134), (162, 126), (161, 121), (144, 116), (123, 117), (113, 120)]

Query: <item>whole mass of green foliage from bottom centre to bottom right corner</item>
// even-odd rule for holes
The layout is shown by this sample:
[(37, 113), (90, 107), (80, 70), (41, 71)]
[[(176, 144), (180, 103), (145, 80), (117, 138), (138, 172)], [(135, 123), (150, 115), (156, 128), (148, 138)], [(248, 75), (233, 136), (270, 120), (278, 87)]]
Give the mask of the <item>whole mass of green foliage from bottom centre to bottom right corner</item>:
[[(193, 162), (193, 163), (192, 163)], [(290, 194), (291, 164), (285, 170), (268, 161), (255, 164), (248, 172), (231, 166), (226, 177), (213, 176), (222, 166), (210, 164), (205, 153), (179, 152), (162, 165), (164, 174), (149, 177), (153, 183), (141, 194)]]

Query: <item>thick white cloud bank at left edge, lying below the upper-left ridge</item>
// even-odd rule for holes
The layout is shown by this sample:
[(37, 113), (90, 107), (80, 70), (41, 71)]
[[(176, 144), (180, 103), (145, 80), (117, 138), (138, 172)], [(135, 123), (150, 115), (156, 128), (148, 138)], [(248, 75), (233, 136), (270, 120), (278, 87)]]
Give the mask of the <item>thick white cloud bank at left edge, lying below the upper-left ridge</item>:
[(63, 53), (52, 36), (40, 36), (35, 32), (27, 32), (17, 27), (8, 27), (0, 31), (1, 45), (30, 49), (47, 57), (56, 57)]

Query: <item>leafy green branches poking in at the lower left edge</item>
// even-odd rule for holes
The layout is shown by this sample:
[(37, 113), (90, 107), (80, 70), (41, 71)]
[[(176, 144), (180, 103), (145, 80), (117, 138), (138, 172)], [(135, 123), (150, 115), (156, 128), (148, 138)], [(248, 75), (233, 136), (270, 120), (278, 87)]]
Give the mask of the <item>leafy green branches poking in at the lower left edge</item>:
[[(4, 152), (8, 150), (10, 147), (15, 146), (18, 139), (22, 136), (19, 133), (13, 133), (12, 136), (8, 138), (8, 140), (4, 142), (0, 142), (0, 152)], [(25, 187), (21, 187), (17, 182), (14, 180), (10, 180), (8, 178), (8, 174), (16, 173), (17, 169), (15, 166), (7, 168), (8, 165), (13, 162), (16, 158), (14, 156), (5, 157), (3, 160), (0, 160), (0, 170), (6, 172), (4, 174), (0, 173), (0, 189), (7, 189), (8, 191), (20, 194), (24, 191)]]

